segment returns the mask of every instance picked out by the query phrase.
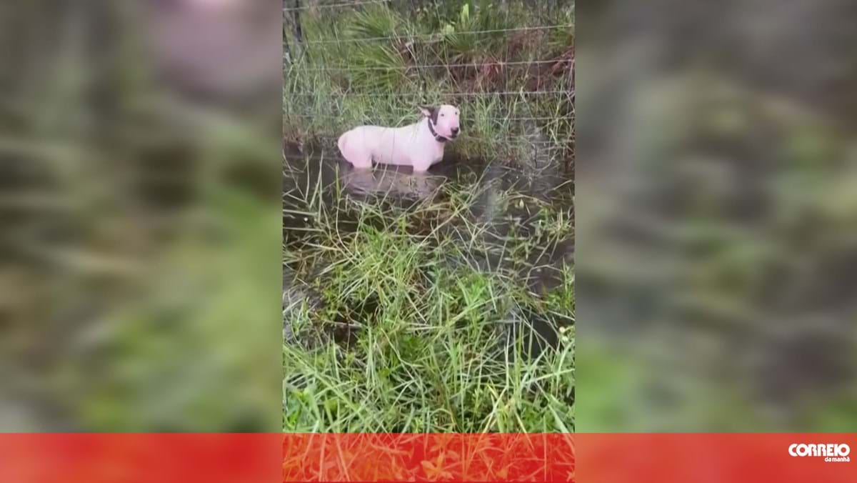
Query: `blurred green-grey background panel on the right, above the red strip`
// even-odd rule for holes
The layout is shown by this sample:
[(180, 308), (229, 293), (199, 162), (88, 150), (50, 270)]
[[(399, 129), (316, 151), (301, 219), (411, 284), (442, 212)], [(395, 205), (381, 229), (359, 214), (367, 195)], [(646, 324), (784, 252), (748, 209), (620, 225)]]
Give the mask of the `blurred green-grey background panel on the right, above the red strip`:
[(578, 431), (853, 432), (857, 4), (578, 15)]

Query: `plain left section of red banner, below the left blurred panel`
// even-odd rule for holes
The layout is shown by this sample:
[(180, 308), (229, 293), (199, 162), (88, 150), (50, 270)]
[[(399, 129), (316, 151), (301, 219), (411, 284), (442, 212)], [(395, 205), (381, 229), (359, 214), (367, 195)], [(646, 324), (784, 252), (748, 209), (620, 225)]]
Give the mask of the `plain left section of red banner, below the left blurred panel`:
[(282, 434), (0, 434), (2, 483), (279, 481)]

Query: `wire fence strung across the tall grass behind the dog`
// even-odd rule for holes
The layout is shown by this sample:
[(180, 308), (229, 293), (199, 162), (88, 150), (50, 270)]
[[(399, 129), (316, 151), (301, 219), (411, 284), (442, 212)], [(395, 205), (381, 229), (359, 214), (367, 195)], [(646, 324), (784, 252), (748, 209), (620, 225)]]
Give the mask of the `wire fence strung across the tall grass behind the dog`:
[[(510, 3), (512, 0), (498, 0), (494, 4)], [(533, 15), (518, 25), (495, 27), (484, 16), (460, 24), (453, 18), (454, 26), (446, 24), (425, 33), (430, 28), (424, 25), (393, 28), (385, 17), (371, 16), (396, 9), (411, 20), (417, 6), (424, 4), (422, 0), (284, 0), (284, 115), (290, 125), (302, 133), (311, 132), (319, 141), (335, 142), (349, 123), (401, 119), (412, 112), (416, 116), (409, 106), (431, 104), (429, 100), (457, 106), (478, 102), (488, 112), (479, 125), (494, 131), (458, 136), (460, 141), (506, 139), (530, 146), (543, 144), (572, 155), (573, 39), (567, 48), (554, 51), (545, 45), (551, 36), (571, 32), (573, 21), (557, 15)], [(430, 4), (438, 9), (438, 4)], [(569, 4), (573, 9), (572, 0)], [(460, 16), (464, 18), (466, 13), (464, 10)], [(482, 10), (470, 15), (502, 13)], [(337, 23), (344, 18), (349, 20)], [(553, 21), (530, 25), (533, 18)], [(442, 26), (443, 21), (438, 20)], [(348, 29), (355, 21), (365, 21), (368, 27)], [(389, 27), (388, 32), (381, 27)], [(524, 49), (515, 45), (527, 39), (530, 45)], [(467, 51), (471, 45), (477, 47)], [(361, 57), (366, 52), (377, 55)], [(536, 132), (534, 136), (534, 126), (549, 134)], [(498, 134), (496, 130), (504, 131)]]

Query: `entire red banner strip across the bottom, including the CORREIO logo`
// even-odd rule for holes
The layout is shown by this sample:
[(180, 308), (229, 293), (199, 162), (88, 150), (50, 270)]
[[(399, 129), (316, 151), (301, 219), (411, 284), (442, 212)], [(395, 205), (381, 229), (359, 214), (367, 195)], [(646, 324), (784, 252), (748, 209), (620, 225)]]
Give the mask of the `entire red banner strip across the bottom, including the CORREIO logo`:
[(2, 434), (0, 482), (857, 481), (854, 434)]

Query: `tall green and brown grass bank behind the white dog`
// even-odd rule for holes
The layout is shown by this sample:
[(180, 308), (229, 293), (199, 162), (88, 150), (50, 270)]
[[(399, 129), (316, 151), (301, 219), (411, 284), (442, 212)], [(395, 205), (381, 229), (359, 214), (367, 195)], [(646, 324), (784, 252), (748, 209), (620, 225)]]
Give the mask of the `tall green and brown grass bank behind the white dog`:
[(303, 55), (285, 65), (284, 135), (332, 146), (356, 125), (410, 124), (417, 105), (447, 103), (462, 112), (463, 136), (450, 146), (459, 154), (520, 157), (537, 142), (568, 157), (573, 9), (468, 1), (306, 10)]

